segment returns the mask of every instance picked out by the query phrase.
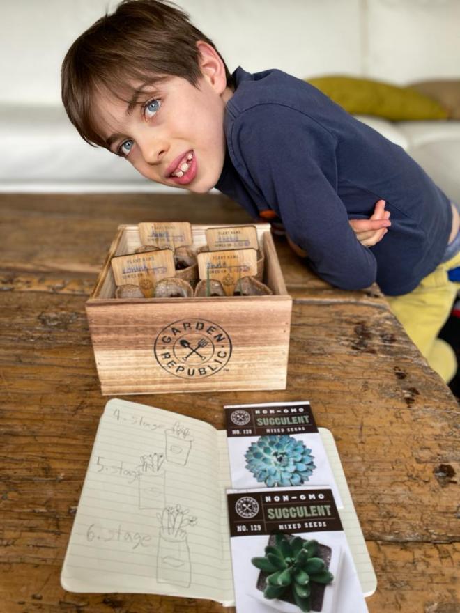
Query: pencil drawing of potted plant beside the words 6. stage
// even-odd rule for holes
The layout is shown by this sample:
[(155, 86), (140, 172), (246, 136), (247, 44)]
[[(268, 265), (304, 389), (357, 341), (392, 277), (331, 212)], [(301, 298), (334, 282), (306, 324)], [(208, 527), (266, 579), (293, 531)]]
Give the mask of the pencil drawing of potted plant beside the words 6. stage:
[(197, 525), (196, 517), (185, 517), (188, 509), (183, 511), (181, 505), (167, 506), (160, 520), (160, 541), (157, 552), (157, 581), (181, 587), (190, 587), (192, 570), (190, 566), (190, 549), (187, 543), (187, 526)]

